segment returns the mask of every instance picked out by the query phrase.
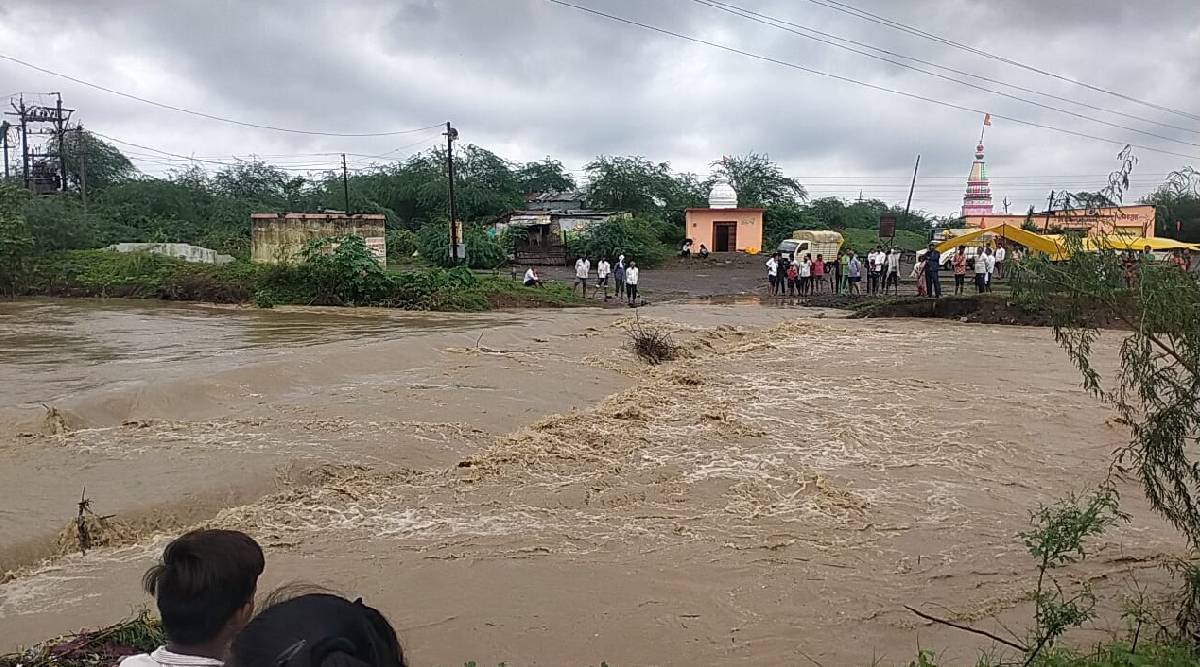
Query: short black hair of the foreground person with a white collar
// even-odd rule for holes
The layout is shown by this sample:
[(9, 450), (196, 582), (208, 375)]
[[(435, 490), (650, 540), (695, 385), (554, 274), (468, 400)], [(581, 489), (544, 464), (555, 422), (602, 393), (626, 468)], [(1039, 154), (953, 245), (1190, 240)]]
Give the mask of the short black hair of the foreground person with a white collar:
[(172, 642), (215, 639), (238, 609), (254, 599), (263, 548), (238, 530), (192, 530), (172, 540), (142, 584), (155, 596)]

